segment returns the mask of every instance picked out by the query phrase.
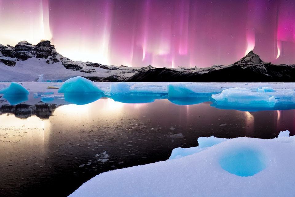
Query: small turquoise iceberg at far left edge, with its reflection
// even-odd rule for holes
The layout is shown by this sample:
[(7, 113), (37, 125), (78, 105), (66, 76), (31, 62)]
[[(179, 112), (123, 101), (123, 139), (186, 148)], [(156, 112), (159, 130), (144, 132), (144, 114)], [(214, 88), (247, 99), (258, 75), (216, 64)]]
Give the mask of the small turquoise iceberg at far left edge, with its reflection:
[(8, 87), (0, 90), (0, 94), (4, 94), (3, 98), (5, 98), (10, 105), (16, 105), (29, 99), (29, 91), (22, 85), (14, 82), (10, 83)]

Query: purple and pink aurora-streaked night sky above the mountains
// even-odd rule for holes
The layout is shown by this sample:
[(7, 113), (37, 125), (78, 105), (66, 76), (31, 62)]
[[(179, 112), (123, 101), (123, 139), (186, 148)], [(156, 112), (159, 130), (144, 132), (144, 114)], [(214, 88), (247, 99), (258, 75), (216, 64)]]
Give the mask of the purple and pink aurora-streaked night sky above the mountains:
[(295, 1), (0, 0), (0, 43), (48, 39), (72, 60), (108, 65), (228, 65), (253, 49), (295, 63)]

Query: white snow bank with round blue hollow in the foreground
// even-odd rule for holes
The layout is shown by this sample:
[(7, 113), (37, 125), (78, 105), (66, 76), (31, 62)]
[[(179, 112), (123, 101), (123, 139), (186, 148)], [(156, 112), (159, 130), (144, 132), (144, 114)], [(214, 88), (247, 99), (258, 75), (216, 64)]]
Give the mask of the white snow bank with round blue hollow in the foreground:
[(294, 196), (295, 136), (288, 136), (203, 138), (202, 151), (102, 173), (69, 196)]

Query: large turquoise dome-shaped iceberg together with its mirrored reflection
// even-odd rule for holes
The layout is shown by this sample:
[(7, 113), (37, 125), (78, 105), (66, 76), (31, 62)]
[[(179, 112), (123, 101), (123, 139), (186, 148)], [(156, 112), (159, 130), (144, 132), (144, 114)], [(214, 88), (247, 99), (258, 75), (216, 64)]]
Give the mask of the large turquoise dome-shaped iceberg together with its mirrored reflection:
[(58, 92), (65, 94), (65, 101), (76, 105), (92, 103), (104, 96), (102, 90), (94, 82), (84, 77), (66, 80)]

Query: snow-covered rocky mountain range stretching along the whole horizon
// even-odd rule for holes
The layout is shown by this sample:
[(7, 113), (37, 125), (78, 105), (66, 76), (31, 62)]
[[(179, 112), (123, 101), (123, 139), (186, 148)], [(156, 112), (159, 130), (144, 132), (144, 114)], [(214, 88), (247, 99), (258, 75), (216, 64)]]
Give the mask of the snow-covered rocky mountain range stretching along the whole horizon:
[(294, 82), (294, 71), (294, 64), (263, 62), (253, 51), (228, 66), (154, 68), (75, 62), (57, 53), (48, 40), (37, 45), (26, 41), (15, 46), (0, 44), (2, 82), (32, 82), (40, 74), (44, 74), (44, 79), (62, 81), (83, 76), (101, 82)]

